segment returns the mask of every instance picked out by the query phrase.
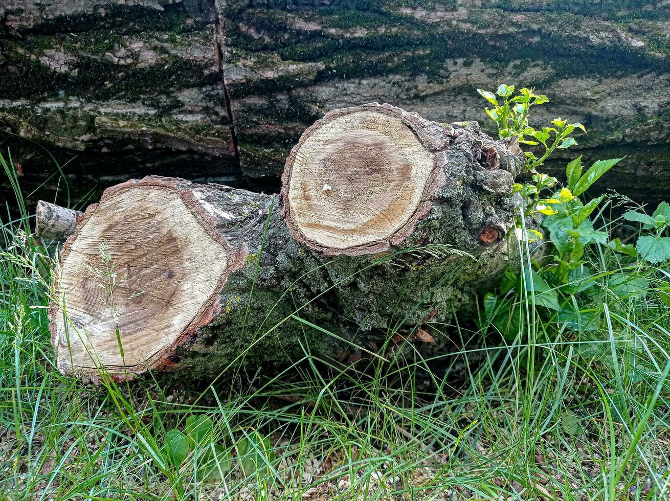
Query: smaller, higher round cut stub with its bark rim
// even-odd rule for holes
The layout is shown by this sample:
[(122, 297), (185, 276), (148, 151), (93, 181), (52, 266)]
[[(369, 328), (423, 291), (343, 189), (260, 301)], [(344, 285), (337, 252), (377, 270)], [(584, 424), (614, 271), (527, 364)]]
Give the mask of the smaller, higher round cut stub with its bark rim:
[(440, 188), (428, 149), (435, 141), (419, 139), (428, 124), (436, 125), (375, 103), (332, 111), (307, 129), (283, 175), (293, 238), (328, 255), (378, 253), (403, 240)]

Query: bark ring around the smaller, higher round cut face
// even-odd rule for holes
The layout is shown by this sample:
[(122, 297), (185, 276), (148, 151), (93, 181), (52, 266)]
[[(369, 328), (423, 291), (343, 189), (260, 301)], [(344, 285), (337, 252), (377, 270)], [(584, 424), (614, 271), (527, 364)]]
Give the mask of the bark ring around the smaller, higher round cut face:
[[(371, 102), (368, 104), (362, 104), (361, 106), (353, 106), (351, 108), (342, 108), (339, 110), (332, 110), (324, 115), (324, 118), (316, 121), (314, 124), (310, 125), (306, 131), (300, 136), (300, 139), (292, 149), (289, 157), (286, 159), (286, 164), (284, 172), (281, 175), (281, 192), (279, 198), (281, 200), (281, 217), (286, 222), (288, 226), (289, 233), (293, 237), (293, 240), (304, 244), (312, 250), (316, 250), (326, 256), (336, 256), (336, 255), (346, 255), (346, 256), (363, 256), (371, 254), (379, 254), (387, 252), (391, 249), (391, 246), (397, 246), (405, 240), (409, 235), (413, 233), (419, 221), (425, 216), (427, 216), (433, 208), (431, 200), (438, 194), (438, 192), (446, 184), (446, 176), (442, 172), (442, 165), (438, 163), (438, 158), (435, 157), (433, 161), (433, 169), (431, 170), (428, 179), (425, 182), (423, 187), (423, 192), (421, 194), (421, 199), (417, 204), (414, 212), (407, 218), (407, 221), (403, 226), (395, 230), (393, 234), (381, 239), (376, 240), (375, 242), (370, 242), (368, 244), (356, 245), (347, 248), (332, 248), (327, 247), (310, 238), (307, 238), (305, 234), (300, 230), (300, 228), (293, 221), (293, 216), (291, 214), (291, 208), (288, 200), (289, 192), (289, 182), (291, 179), (291, 172), (293, 171), (293, 163), (295, 162), (295, 157), (297, 151), (302, 147), (304, 142), (310, 137), (312, 131), (319, 129), (324, 123), (327, 123), (338, 117), (344, 117), (345, 115), (351, 115), (352, 113), (357, 113), (359, 111), (373, 111), (376, 113), (382, 113), (383, 115), (389, 115), (390, 117), (399, 119), (407, 128), (412, 131), (418, 141), (427, 149), (434, 153), (435, 151), (444, 150), (448, 147), (447, 141), (440, 141), (439, 138), (431, 136), (429, 133), (424, 131), (426, 125), (431, 124), (430, 122), (422, 119), (419, 115), (414, 113), (407, 113), (403, 109), (397, 108), (396, 106), (391, 106), (391, 104), (384, 103), (379, 104), (378, 102)], [(435, 123), (435, 126), (442, 127), (439, 124)], [(444, 128), (443, 128), (444, 130)], [(449, 135), (449, 131), (445, 131)]]

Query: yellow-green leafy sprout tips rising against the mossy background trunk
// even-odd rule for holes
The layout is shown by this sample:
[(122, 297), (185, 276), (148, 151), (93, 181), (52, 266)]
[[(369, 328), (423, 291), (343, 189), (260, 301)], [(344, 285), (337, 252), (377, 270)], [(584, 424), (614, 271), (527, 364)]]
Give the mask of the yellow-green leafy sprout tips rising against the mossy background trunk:
[(526, 151), (525, 168), (529, 172), (542, 165), (555, 149), (565, 149), (577, 144), (572, 137), (576, 129), (586, 133), (581, 123), (567, 123), (558, 117), (551, 121), (550, 127), (534, 129), (529, 123), (532, 106), (549, 102), (545, 94), (535, 94), (533, 89), (522, 88), (515, 94), (515, 86), (501, 84), (495, 93), (478, 88), (480, 96), (493, 104), (493, 108), (486, 108), (486, 114), (498, 127), (500, 139), (517, 137), (524, 145), (542, 145), (544, 151), (538, 157), (531, 151)]

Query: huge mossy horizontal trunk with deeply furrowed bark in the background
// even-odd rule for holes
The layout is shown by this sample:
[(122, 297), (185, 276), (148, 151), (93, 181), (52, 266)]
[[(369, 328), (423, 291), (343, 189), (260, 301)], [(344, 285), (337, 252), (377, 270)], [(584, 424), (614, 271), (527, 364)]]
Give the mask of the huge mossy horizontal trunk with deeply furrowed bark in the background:
[[(627, 155), (602, 187), (667, 197), (663, 2), (121, 4), (0, 5), (0, 123), (58, 148), (61, 163), (77, 155), (64, 167), (73, 196), (148, 173), (277, 186), (291, 145), (328, 109), (387, 101), (484, 125), (476, 88), (516, 82), (551, 98), (535, 123), (560, 115), (588, 128), (566, 158)], [(53, 173), (44, 151), (11, 145), (25, 184)]]

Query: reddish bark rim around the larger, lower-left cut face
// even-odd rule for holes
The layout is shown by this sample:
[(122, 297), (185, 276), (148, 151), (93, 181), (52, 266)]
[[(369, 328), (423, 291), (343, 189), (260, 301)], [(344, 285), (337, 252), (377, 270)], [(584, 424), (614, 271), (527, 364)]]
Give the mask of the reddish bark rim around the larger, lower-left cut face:
[[(174, 343), (167, 348), (163, 348), (162, 352), (161, 351), (156, 352), (151, 357), (151, 359), (153, 359), (153, 362), (149, 361), (147, 364), (143, 365), (135, 364), (133, 366), (126, 366), (125, 373), (123, 374), (109, 372), (108, 373), (109, 376), (115, 382), (131, 380), (133, 379), (134, 376), (142, 374), (147, 370), (166, 369), (174, 366), (176, 362), (174, 362), (172, 358), (174, 358), (174, 356), (176, 355), (177, 348), (180, 348), (182, 346), (184, 348), (188, 348), (189, 346), (191, 346), (195, 341), (195, 335), (198, 329), (210, 324), (212, 319), (214, 319), (214, 317), (216, 317), (216, 315), (220, 313), (220, 303), (218, 301), (218, 298), (226, 281), (228, 280), (228, 276), (230, 275), (230, 273), (235, 273), (235, 271), (239, 271), (245, 265), (245, 259), (247, 255), (249, 255), (249, 248), (247, 248), (246, 244), (243, 246), (233, 247), (230, 244), (230, 242), (228, 242), (228, 240), (226, 240), (226, 238), (222, 236), (220, 232), (214, 229), (217, 224), (216, 218), (212, 217), (210, 214), (208, 214), (208, 212), (206, 212), (206, 210), (202, 208), (202, 206), (198, 203), (193, 194), (194, 190), (196, 190), (199, 186), (205, 186), (205, 185), (194, 184), (190, 181), (181, 180), (178, 178), (162, 177), (156, 175), (149, 175), (147, 177), (143, 177), (143, 179), (141, 180), (129, 180), (125, 183), (111, 186), (110, 188), (107, 188), (105, 192), (103, 192), (103, 196), (100, 198), (100, 202), (98, 204), (91, 204), (86, 208), (84, 214), (77, 217), (74, 233), (68, 236), (65, 244), (62, 247), (60, 253), (61, 265), (65, 262), (68, 255), (70, 254), (70, 250), (72, 249), (72, 244), (74, 243), (74, 240), (76, 240), (80, 231), (84, 228), (84, 226), (86, 226), (86, 222), (88, 222), (88, 219), (98, 208), (99, 204), (105, 202), (105, 200), (107, 200), (108, 198), (111, 198), (130, 188), (147, 187), (147, 188), (165, 188), (166, 190), (176, 192), (176, 194), (178, 194), (178, 196), (182, 198), (188, 210), (190, 210), (190, 212), (194, 215), (196, 221), (198, 221), (198, 224), (200, 224), (200, 226), (204, 228), (207, 234), (209, 234), (213, 240), (218, 242), (218, 244), (220, 244), (224, 248), (226, 253), (228, 253), (229, 258), (228, 266), (226, 267), (226, 271), (218, 279), (218, 282), (216, 283), (216, 288), (214, 289), (214, 293), (212, 293), (212, 295), (210, 295), (210, 297), (208, 297), (208, 299), (206, 299), (206, 301), (202, 303), (200, 311), (196, 313), (196, 315), (194, 315), (193, 319), (189, 322), (186, 328), (184, 328), (184, 330), (174, 341)], [(53, 278), (54, 290), (58, 292), (60, 292), (58, 290), (59, 278), (60, 277), (56, 276), (54, 276)], [(50, 305), (48, 308), (48, 314), (50, 320), (49, 331), (51, 334), (52, 346), (56, 351), (56, 358), (58, 358), (59, 356), (58, 353), (59, 346), (58, 343), (56, 342), (57, 333), (56, 333), (56, 322), (54, 321), (54, 319), (56, 317), (55, 315), (57, 315), (59, 311), (60, 308), (56, 304), (56, 301), (52, 299), (50, 301)], [(74, 367), (70, 367), (68, 364), (68, 369), (70, 374), (76, 375)], [(88, 376), (94, 384), (98, 384), (101, 380), (99, 374), (86, 374), (86, 376)]]

